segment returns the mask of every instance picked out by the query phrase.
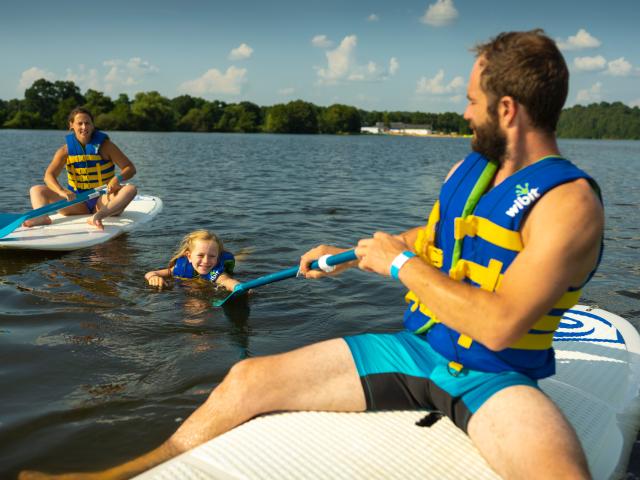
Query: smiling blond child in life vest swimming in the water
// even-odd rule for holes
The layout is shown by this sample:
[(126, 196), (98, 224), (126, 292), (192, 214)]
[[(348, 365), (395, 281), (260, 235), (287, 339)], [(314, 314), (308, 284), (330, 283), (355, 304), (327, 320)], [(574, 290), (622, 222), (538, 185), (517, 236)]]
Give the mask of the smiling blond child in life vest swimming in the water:
[(147, 272), (144, 278), (149, 285), (158, 288), (166, 287), (167, 279), (172, 277), (201, 278), (233, 291), (240, 283), (231, 278), (235, 265), (235, 257), (224, 250), (217, 235), (207, 230), (196, 230), (182, 239), (168, 268)]

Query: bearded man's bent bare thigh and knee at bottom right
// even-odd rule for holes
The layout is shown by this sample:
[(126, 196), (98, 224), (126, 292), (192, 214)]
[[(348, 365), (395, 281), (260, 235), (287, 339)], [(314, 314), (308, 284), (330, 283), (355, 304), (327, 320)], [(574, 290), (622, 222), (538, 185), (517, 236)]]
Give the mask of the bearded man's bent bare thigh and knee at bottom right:
[(590, 478), (573, 427), (541, 391), (513, 386), (471, 417), (469, 436), (503, 478)]

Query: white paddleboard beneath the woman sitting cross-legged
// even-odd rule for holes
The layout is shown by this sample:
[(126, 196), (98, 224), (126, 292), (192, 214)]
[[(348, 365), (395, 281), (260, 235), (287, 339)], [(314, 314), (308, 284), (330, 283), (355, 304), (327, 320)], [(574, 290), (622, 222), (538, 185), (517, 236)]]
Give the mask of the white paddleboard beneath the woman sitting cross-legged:
[(162, 200), (136, 195), (119, 216), (103, 220), (104, 230), (89, 225), (90, 215), (51, 215), (51, 225), (20, 227), (0, 238), (0, 249), (70, 251), (91, 247), (133, 230), (162, 211)]

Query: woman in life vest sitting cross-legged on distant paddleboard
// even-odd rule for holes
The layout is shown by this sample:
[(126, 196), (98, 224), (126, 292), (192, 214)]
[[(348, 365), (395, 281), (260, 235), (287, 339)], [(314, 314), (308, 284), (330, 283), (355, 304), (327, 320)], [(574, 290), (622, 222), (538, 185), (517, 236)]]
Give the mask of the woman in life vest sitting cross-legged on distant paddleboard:
[[(134, 185), (122, 185), (136, 174), (136, 167), (106, 133), (96, 130), (89, 110), (74, 108), (69, 114), (69, 130), (66, 143), (56, 151), (45, 171), (45, 185), (31, 187), (31, 205), (36, 209), (60, 200), (70, 201), (79, 193), (107, 185), (104, 195), (60, 210), (62, 215), (92, 214), (87, 223), (104, 230), (102, 220), (122, 213), (136, 196)], [(63, 169), (67, 170), (66, 188), (58, 182)], [(45, 215), (26, 220), (24, 226), (50, 223), (51, 219)]]

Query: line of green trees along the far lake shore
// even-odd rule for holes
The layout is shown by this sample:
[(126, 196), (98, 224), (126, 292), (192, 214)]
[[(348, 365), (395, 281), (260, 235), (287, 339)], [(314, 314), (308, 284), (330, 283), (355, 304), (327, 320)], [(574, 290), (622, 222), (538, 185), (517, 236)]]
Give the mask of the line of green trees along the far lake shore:
[[(104, 130), (269, 133), (360, 133), (361, 126), (402, 122), (429, 125), (441, 133), (469, 134), (468, 123), (454, 112), (365, 111), (349, 105), (329, 107), (294, 100), (272, 106), (252, 102), (208, 101), (190, 95), (169, 99), (156, 91), (130, 99), (112, 99), (97, 90), (81, 93), (72, 81), (36, 80), (23, 100), (0, 99), (0, 126), (17, 129), (62, 129), (77, 107), (89, 109)], [(558, 136), (565, 138), (640, 139), (640, 109), (620, 102), (601, 102), (563, 110)]]

